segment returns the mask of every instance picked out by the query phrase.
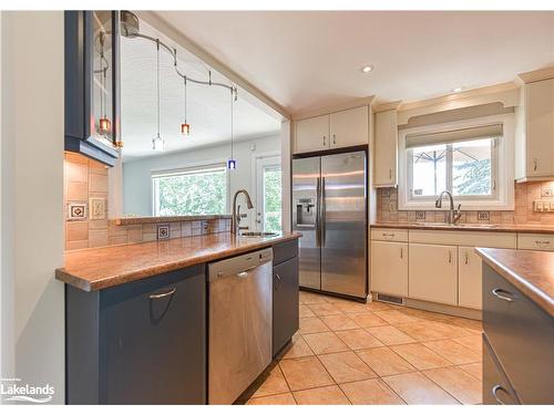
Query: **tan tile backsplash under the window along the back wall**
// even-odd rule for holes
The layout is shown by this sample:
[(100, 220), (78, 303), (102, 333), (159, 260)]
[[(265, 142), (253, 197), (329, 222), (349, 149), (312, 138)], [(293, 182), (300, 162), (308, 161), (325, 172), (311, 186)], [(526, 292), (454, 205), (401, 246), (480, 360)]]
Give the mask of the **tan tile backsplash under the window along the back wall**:
[[(464, 210), (462, 205), (462, 224), (517, 224), (517, 225), (554, 225), (554, 212), (533, 211), (533, 201), (554, 201), (547, 189), (554, 187), (553, 181), (530, 181), (515, 184), (515, 210)], [(455, 199), (454, 199), (455, 201)], [(398, 210), (398, 189), (382, 188), (377, 190), (377, 221), (445, 221), (443, 210)]]

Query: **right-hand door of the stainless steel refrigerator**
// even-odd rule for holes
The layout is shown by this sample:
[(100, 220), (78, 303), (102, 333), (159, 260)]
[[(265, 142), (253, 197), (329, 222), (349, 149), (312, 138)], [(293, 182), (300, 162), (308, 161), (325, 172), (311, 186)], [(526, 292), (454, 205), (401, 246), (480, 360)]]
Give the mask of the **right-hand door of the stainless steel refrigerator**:
[(321, 290), (366, 298), (366, 153), (321, 157)]

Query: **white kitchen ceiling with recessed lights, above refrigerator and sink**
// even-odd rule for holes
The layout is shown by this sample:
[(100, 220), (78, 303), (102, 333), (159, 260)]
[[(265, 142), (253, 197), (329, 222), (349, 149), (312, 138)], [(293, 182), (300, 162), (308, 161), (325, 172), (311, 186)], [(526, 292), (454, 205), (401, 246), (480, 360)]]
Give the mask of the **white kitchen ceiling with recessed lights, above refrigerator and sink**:
[[(289, 113), (413, 101), (554, 63), (554, 12), (160, 11)], [(362, 74), (361, 66), (375, 71)]]

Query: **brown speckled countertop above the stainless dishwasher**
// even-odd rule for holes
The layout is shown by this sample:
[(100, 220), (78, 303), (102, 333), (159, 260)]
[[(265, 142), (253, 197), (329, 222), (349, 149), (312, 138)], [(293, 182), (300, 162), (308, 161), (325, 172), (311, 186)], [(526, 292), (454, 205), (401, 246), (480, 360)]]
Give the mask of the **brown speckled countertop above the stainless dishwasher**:
[(220, 232), (70, 251), (64, 255), (63, 268), (55, 270), (55, 278), (81, 290), (95, 291), (267, 248), (300, 236), (284, 232), (270, 238), (237, 238), (230, 232)]

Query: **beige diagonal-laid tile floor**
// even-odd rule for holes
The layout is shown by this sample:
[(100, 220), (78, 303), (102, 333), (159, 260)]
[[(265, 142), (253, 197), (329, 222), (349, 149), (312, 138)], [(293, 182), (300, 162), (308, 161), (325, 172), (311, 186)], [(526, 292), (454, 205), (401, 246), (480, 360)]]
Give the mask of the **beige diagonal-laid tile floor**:
[(249, 405), (480, 404), (480, 321), (300, 292), (300, 330)]

